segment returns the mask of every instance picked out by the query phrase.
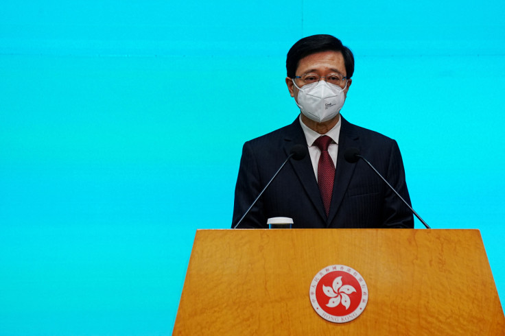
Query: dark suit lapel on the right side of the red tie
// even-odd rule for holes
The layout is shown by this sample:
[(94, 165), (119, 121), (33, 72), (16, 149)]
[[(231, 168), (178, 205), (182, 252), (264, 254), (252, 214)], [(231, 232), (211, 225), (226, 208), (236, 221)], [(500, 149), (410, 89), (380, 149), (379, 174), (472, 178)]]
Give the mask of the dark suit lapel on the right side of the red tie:
[[(338, 154), (337, 154), (337, 165), (335, 169), (335, 182), (333, 184), (333, 196), (331, 197), (331, 205), (329, 210), (329, 216), (327, 221), (327, 226), (330, 226), (334, 217), (342, 204), (345, 192), (347, 191), (347, 186), (351, 181), (354, 169), (356, 167), (353, 163), (348, 163), (344, 158), (344, 153), (349, 147), (357, 147), (360, 149), (360, 143), (358, 141), (359, 136), (355, 132), (354, 126), (345, 120), (342, 115), (342, 125), (340, 126), (340, 136), (338, 137)], [(342, 224), (338, 223), (337, 226)]]

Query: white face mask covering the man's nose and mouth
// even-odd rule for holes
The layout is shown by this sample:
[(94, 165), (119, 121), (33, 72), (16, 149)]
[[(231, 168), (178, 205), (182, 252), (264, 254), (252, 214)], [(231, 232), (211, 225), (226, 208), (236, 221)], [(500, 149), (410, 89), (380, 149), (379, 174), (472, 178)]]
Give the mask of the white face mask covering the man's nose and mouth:
[[(298, 88), (294, 80), (293, 84)], [(317, 83), (298, 88), (297, 100), (295, 100), (296, 105), (305, 117), (322, 123), (336, 117), (342, 106), (344, 106), (344, 88), (320, 80)]]

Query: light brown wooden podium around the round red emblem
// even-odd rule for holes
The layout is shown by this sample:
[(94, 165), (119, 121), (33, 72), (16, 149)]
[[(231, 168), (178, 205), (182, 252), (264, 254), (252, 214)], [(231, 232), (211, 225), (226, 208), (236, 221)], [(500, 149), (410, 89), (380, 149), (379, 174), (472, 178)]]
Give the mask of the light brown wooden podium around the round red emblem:
[[(314, 276), (347, 265), (368, 286), (355, 320), (312, 308)], [(505, 335), (478, 230), (198, 230), (174, 335)]]

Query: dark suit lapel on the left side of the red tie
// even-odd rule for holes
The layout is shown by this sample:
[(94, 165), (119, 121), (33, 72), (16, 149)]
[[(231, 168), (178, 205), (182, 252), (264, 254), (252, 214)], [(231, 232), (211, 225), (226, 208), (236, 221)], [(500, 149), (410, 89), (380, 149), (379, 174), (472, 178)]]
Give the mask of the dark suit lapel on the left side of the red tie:
[[(290, 149), (294, 145), (301, 143), (307, 145), (307, 139), (305, 139), (305, 134), (300, 125), (298, 118), (290, 125), (286, 136), (284, 139), (284, 151), (286, 155), (290, 154)], [(325, 213), (325, 206), (322, 204), (321, 195), (319, 193), (318, 183), (316, 181), (316, 176), (314, 174), (314, 168), (312, 167), (312, 161), (310, 160), (310, 155), (307, 153), (305, 158), (302, 160), (290, 160), (290, 165), (293, 167), (298, 180), (305, 189), (305, 192), (309, 196), (312, 204), (317, 209), (319, 215), (323, 221), (327, 220)]]

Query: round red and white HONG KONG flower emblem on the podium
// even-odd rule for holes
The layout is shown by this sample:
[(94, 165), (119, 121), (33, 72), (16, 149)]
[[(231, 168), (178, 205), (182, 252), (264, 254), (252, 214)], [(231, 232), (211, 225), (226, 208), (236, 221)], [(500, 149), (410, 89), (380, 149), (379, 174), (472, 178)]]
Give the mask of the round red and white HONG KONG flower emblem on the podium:
[(368, 287), (355, 269), (331, 265), (314, 276), (309, 296), (320, 317), (329, 322), (344, 323), (363, 312), (368, 302)]

